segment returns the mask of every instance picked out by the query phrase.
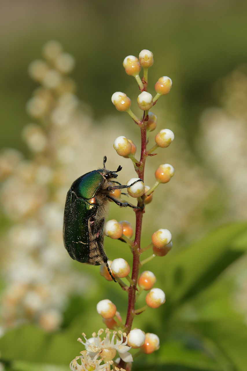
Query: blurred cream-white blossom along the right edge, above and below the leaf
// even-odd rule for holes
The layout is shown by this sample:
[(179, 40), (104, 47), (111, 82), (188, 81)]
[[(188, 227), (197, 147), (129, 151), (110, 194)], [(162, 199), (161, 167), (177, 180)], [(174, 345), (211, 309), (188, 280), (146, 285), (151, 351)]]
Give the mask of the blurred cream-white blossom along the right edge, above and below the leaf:
[[(221, 108), (201, 116), (200, 151), (223, 188), (224, 222), (247, 218), (247, 74), (240, 65), (220, 81)], [(247, 323), (246, 257), (230, 273), (234, 277), (232, 305)]]

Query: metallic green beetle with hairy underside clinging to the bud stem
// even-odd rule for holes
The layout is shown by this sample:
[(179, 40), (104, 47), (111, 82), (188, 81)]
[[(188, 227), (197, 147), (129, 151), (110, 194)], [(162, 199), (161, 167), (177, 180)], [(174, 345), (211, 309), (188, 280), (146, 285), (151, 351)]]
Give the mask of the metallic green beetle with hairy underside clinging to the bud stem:
[[(72, 259), (91, 265), (105, 263), (113, 278), (104, 251), (104, 225), (108, 200), (114, 201), (119, 206), (129, 206), (133, 209), (142, 209), (143, 206), (122, 202), (110, 194), (111, 190), (128, 188), (130, 185), (121, 185), (112, 180), (117, 178), (116, 173), (122, 169), (120, 165), (116, 171), (110, 171), (106, 170), (105, 164), (106, 156), (104, 156), (103, 169), (81, 175), (72, 183), (64, 207), (63, 241)], [(112, 183), (119, 185), (109, 185)], [(115, 279), (114, 281), (116, 282)]]

